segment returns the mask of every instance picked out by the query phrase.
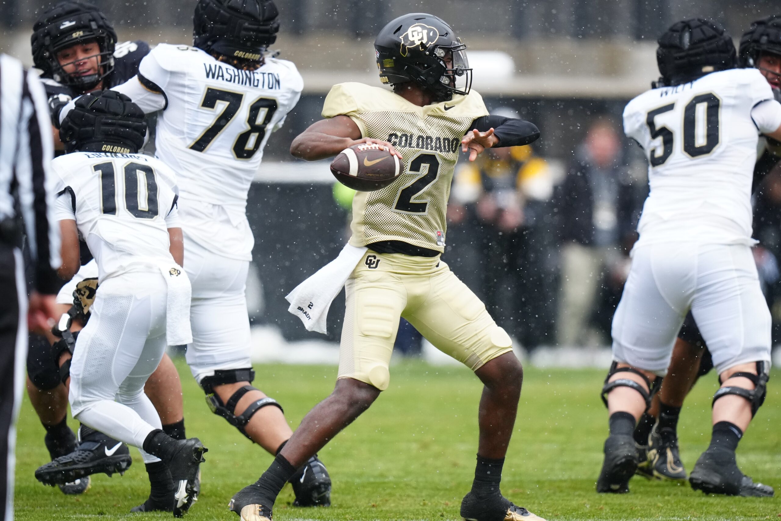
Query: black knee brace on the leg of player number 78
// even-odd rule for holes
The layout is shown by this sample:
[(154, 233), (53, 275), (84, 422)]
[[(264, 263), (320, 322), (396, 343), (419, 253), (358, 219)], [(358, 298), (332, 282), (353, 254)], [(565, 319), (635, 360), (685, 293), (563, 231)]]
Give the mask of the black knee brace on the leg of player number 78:
[(249, 420), (255, 415), (255, 412), (258, 412), (268, 405), (278, 407), (280, 411), (284, 412), (282, 405), (277, 403), (274, 398), (260, 398), (259, 400), (253, 401), (248, 405), (247, 409), (244, 409), (244, 412), (236, 416), (236, 405), (244, 394), (247, 394), (249, 391), (259, 391), (259, 389), (256, 389), (251, 385), (245, 385), (234, 392), (226, 403), (223, 403), (223, 401), (219, 399), (219, 396), (214, 392), (214, 387), (225, 384), (235, 384), (237, 382), (251, 383), (252, 380), (255, 380), (255, 371), (252, 369), (219, 370), (214, 372), (214, 376), (205, 376), (205, 378), (201, 380), (201, 387), (203, 387), (203, 390), (206, 393), (206, 405), (209, 405), (209, 409), (217, 416), (222, 416), (228, 420), (228, 423), (236, 427), (241, 431), (241, 434), (244, 434), (244, 436), (248, 437), (250, 440), (251, 438), (244, 430), (244, 427), (247, 426), (247, 423), (249, 423)]

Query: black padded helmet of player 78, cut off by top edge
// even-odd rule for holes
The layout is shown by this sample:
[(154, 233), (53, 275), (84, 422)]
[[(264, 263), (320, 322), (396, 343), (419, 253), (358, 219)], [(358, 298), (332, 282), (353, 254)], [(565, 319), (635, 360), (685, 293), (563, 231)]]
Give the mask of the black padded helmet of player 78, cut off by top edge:
[(229, 58), (259, 62), (280, 30), (273, 0), (198, 0), (193, 45)]

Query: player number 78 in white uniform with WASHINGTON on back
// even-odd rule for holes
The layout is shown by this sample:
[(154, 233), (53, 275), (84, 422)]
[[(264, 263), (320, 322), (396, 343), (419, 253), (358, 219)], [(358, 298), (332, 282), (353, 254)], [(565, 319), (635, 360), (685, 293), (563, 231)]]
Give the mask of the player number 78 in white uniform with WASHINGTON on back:
[[(303, 88), (295, 65), (267, 52), (278, 17), (271, 0), (198, 0), (194, 45), (158, 45), (137, 77), (114, 87), (159, 112), (156, 153), (179, 173), (192, 283), (187, 364), (212, 412), (271, 454), (292, 432), (282, 406), (251, 385), (244, 291), (255, 239), (245, 209), (263, 147)], [(291, 485), (296, 505), (330, 505), (330, 476), (315, 455)]]

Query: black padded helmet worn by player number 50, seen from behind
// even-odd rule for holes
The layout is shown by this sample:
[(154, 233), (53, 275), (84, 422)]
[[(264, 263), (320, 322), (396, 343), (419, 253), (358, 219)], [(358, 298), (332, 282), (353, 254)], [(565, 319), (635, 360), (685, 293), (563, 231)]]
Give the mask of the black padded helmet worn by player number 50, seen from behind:
[(732, 38), (719, 25), (701, 18), (673, 23), (658, 45), (656, 61), (662, 77), (653, 87), (685, 84), (737, 66)]

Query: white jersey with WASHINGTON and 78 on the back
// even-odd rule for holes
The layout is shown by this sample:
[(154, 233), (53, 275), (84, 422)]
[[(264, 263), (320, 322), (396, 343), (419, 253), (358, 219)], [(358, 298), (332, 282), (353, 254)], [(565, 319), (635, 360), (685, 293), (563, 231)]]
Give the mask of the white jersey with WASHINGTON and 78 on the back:
[(187, 237), (220, 255), (250, 260), (247, 193), (269, 135), (301, 97), (295, 65), (269, 57), (258, 70), (239, 70), (199, 48), (161, 44), (141, 61), (134, 81), (116, 90), (144, 112), (159, 107), (145, 106), (144, 95), (137, 99), (138, 82), (165, 97), (155, 153), (179, 174)]

